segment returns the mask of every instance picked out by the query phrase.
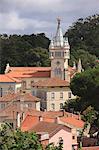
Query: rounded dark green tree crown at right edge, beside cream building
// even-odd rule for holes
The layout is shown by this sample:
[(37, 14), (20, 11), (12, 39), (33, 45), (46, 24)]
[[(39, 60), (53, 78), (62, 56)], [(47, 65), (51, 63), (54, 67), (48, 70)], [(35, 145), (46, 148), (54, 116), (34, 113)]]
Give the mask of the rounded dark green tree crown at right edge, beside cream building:
[(72, 93), (80, 98), (85, 108), (91, 105), (99, 110), (99, 67), (76, 74), (70, 88)]

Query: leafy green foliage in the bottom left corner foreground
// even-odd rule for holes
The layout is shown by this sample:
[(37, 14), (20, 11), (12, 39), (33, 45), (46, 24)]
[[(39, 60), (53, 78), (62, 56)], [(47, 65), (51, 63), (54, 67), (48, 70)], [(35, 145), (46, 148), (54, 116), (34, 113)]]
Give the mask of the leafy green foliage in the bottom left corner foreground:
[(0, 150), (42, 150), (35, 133), (13, 130), (4, 125), (0, 129)]

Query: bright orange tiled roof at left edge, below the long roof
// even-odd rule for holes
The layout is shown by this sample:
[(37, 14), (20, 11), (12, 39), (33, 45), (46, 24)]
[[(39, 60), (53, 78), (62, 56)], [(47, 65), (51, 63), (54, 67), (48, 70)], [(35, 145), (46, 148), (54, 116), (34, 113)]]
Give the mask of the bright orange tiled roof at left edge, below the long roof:
[(20, 83), (21, 80), (18, 80), (14, 77), (9, 77), (6, 74), (0, 74), (0, 82)]

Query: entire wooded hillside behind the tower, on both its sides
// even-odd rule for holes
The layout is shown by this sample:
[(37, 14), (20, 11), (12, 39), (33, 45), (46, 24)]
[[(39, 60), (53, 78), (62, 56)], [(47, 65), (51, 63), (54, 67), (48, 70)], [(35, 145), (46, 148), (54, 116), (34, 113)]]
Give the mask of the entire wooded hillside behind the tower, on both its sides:
[[(78, 19), (68, 29), (71, 46), (70, 65), (81, 58), (83, 68), (94, 67), (99, 58), (99, 15)], [(50, 40), (44, 33), (37, 35), (0, 36), (0, 72), (7, 63), (11, 66), (49, 66)]]

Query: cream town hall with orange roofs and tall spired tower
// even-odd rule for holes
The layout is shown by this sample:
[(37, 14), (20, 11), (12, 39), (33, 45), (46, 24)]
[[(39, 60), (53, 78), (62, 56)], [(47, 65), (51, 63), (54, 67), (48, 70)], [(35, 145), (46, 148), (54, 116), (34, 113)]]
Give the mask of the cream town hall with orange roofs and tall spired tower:
[[(7, 64), (5, 76), (20, 80), (21, 92), (31, 92), (38, 97), (41, 110), (59, 111), (66, 101), (75, 99), (69, 87), (70, 80), (82, 70), (81, 60), (77, 68), (75, 63), (73, 67), (68, 65), (70, 45), (68, 38), (63, 37), (60, 19), (57, 19), (56, 34), (49, 45), (49, 59), (51, 67), (11, 67)], [(2, 86), (3, 90), (5, 89)], [(6, 89), (4, 93), (7, 92)]]

